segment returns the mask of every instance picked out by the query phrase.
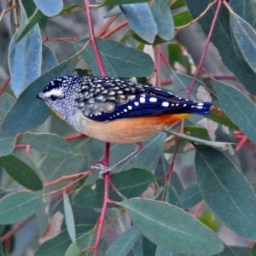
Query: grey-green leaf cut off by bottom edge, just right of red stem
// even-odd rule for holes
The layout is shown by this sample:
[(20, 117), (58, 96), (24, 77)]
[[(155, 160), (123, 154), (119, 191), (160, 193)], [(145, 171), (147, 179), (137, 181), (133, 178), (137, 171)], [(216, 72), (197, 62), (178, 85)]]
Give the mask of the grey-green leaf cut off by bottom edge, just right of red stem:
[(130, 230), (126, 230), (106, 251), (107, 256), (125, 256), (134, 246), (135, 242), (141, 236), (141, 232), (137, 227), (132, 226)]

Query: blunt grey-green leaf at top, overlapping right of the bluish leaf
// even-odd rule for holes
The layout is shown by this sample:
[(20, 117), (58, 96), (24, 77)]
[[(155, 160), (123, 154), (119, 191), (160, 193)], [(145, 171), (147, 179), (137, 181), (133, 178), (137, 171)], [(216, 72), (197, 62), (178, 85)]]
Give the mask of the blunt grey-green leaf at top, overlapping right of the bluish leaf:
[(157, 26), (157, 34), (166, 41), (172, 40), (175, 30), (170, 4), (163, 0), (154, 0), (151, 12)]

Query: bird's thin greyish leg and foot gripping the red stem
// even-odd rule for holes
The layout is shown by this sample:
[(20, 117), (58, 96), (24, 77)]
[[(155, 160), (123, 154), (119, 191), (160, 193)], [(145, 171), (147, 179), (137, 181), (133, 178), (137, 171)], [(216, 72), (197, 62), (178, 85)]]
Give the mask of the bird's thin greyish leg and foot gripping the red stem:
[(113, 172), (113, 170), (120, 166), (121, 164), (123, 164), (126, 160), (131, 159), (132, 156), (136, 155), (139, 151), (141, 151), (143, 149), (143, 143), (135, 143), (135, 149), (134, 151), (131, 152), (131, 154), (128, 154), (127, 156), (125, 156), (124, 159), (119, 160), (119, 162), (117, 162), (116, 164), (114, 164), (111, 167), (108, 166), (104, 166), (102, 164), (97, 164), (96, 166), (91, 166), (91, 168), (96, 169), (96, 170), (100, 170), (99, 173), (99, 177), (103, 177), (105, 173), (107, 172)]

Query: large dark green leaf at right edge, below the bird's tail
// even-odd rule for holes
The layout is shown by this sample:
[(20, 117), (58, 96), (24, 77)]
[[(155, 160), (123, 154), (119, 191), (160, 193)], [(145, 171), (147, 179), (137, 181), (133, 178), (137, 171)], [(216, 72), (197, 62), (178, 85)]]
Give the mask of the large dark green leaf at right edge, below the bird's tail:
[(222, 152), (195, 146), (201, 195), (212, 211), (239, 236), (256, 239), (256, 195), (238, 167)]

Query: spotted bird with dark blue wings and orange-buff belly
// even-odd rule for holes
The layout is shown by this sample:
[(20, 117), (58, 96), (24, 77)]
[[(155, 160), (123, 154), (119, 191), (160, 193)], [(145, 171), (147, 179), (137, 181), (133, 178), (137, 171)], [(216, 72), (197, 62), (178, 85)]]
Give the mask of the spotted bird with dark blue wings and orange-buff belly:
[(207, 114), (212, 106), (149, 84), (102, 76), (62, 76), (50, 81), (37, 97), (88, 137), (106, 143), (135, 143), (137, 149), (124, 160), (137, 154), (143, 141), (166, 125), (193, 113)]

